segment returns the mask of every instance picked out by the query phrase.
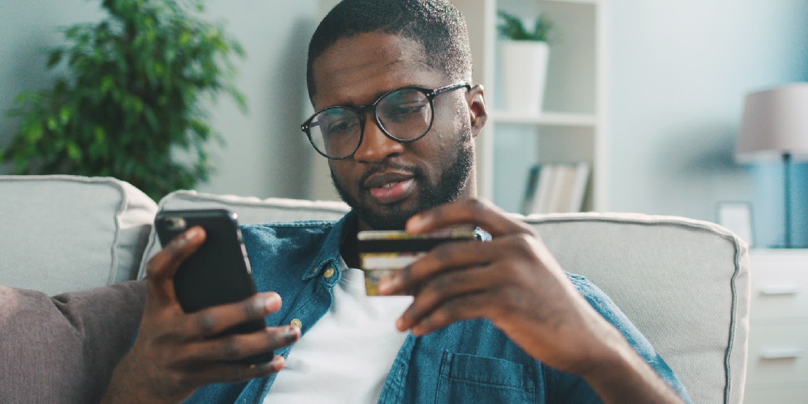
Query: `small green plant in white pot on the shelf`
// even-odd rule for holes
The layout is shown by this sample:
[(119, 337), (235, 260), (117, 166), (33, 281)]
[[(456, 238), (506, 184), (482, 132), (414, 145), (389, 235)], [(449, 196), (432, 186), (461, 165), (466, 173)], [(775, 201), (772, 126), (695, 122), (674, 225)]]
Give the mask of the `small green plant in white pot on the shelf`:
[(547, 77), (548, 39), (553, 25), (539, 15), (528, 31), (522, 19), (499, 11), (500, 74), (504, 107), (511, 112), (541, 113)]

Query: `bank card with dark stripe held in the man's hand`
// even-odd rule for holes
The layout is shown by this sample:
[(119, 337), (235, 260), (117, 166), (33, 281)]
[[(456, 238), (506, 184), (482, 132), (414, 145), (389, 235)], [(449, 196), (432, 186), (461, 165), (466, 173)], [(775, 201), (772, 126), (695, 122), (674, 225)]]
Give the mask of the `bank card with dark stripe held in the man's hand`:
[(385, 276), (410, 265), (444, 242), (474, 240), (475, 234), (472, 229), (446, 229), (428, 234), (369, 230), (360, 231), (356, 238), (367, 295), (378, 296), (379, 281)]

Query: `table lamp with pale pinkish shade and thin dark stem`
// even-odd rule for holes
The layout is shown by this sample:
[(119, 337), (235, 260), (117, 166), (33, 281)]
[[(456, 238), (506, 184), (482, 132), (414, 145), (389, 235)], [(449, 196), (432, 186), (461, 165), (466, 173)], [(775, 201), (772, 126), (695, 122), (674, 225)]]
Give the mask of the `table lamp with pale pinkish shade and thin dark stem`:
[(808, 82), (791, 83), (746, 96), (735, 156), (739, 162), (783, 162), (785, 248), (791, 248), (793, 161), (808, 161)]

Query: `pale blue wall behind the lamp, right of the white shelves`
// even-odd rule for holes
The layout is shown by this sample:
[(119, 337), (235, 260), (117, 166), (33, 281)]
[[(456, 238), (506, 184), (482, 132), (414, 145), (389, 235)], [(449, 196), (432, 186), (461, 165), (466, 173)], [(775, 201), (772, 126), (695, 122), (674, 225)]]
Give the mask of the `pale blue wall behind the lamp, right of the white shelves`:
[(781, 243), (780, 168), (733, 149), (743, 95), (808, 81), (808, 0), (610, 3), (609, 208), (715, 221), (718, 202), (746, 200), (756, 244)]

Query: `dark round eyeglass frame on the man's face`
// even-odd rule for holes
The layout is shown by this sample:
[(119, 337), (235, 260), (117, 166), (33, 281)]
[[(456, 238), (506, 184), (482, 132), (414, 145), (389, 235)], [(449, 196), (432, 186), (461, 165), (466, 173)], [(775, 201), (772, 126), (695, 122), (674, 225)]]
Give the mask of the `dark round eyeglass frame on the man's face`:
[[(429, 129), (432, 128), (432, 123), (435, 122), (435, 98), (438, 95), (444, 94), (444, 93), (446, 93), (448, 91), (457, 90), (458, 88), (463, 88), (463, 87), (465, 87), (467, 90), (471, 90), (471, 84), (469, 82), (456, 82), (454, 84), (449, 84), (448, 86), (442, 86), (442, 87), (439, 87), (439, 88), (436, 88), (436, 89), (433, 89), (433, 90), (430, 90), (428, 88), (423, 88), (421, 86), (403, 86), (403, 87), (399, 87), (399, 88), (387, 91), (385, 94), (381, 95), (378, 99), (376, 99), (376, 101), (373, 101), (373, 103), (368, 104), (368, 105), (360, 105), (359, 107), (356, 107), (356, 108), (355, 107), (345, 107), (343, 105), (332, 105), (330, 107), (322, 108), (318, 112), (314, 112), (314, 114), (312, 114), (312, 116), (309, 116), (309, 119), (305, 120), (305, 122), (303, 122), (303, 124), (301, 124), (301, 130), (306, 134), (306, 137), (309, 138), (309, 143), (311, 143), (311, 145), (314, 146), (314, 149), (317, 150), (317, 153), (322, 155), (322, 157), (328, 158), (330, 160), (343, 160), (345, 158), (350, 158), (351, 156), (356, 154), (356, 150), (359, 150), (360, 146), (362, 145), (362, 140), (364, 138), (364, 112), (367, 111), (368, 108), (372, 108), (373, 120), (376, 122), (377, 126), (379, 128), (381, 128), (381, 133), (384, 133), (386, 137), (389, 137), (390, 139), (393, 139), (393, 141), (398, 141), (399, 143), (412, 143), (412, 142), (418, 141), (422, 137), (426, 136), (427, 133), (429, 132)], [(381, 123), (381, 120), (379, 120), (379, 115), (377, 114), (377, 106), (379, 105), (381, 100), (385, 99), (386, 96), (388, 96), (390, 94), (393, 94), (394, 92), (400, 91), (400, 90), (419, 90), (420, 92), (423, 93), (423, 95), (426, 95), (427, 99), (429, 100), (429, 107), (431, 108), (431, 116), (430, 116), (430, 119), (429, 119), (429, 125), (427, 125), (427, 129), (424, 130), (423, 133), (421, 133), (419, 136), (413, 137), (412, 139), (399, 139), (398, 137), (394, 137), (393, 135), (391, 135), (389, 132), (387, 132), (387, 129), (385, 128), (385, 125)], [(317, 145), (314, 145), (314, 139), (311, 138), (310, 129), (311, 129), (311, 122), (312, 122), (312, 120), (314, 120), (314, 117), (318, 116), (318, 114), (320, 114), (321, 112), (328, 111), (330, 109), (335, 109), (335, 108), (343, 108), (343, 109), (347, 109), (348, 111), (353, 112), (359, 118), (359, 122), (360, 122), (359, 141), (356, 142), (356, 149), (354, 149), (350, 154), (347, 154), (347, 155), (345, 155), (343, 157), (331, 157), (331, 156), (323, 153), (322, 151), (320, 151), (320, 149), (317, 148)]]

